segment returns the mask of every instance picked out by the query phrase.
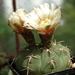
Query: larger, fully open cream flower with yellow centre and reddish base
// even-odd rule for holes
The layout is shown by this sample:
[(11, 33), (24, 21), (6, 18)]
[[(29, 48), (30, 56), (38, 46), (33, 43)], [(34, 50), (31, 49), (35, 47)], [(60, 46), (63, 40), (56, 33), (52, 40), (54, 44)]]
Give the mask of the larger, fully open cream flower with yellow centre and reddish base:
[(40, 34), (49, 34), (60, 23), (61, 11), (54, 4), (40, 5), (23, 18), (24, 27), (38, 30)]

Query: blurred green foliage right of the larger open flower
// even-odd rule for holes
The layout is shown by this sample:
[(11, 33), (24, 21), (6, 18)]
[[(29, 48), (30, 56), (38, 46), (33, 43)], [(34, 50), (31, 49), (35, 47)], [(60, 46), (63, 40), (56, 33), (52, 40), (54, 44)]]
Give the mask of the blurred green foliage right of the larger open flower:
[(65, 22), (57, 28), (55, 39), (57, 41), (64, 40), (63, 44), (68, 46), (73, 55), (75, 55), (75, 9), (73, 5), (69, 3), (63, 4), (62, 18)]

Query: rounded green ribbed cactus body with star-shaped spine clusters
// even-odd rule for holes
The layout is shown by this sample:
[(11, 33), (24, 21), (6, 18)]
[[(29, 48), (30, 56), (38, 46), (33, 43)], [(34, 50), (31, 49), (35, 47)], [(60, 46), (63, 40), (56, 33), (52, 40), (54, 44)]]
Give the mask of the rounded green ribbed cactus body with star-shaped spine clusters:
[(50, 49), (37, 47), (21, 51), (14, 63), (22, 75), (43, 75), (69, 68), (69, 60), (69, 49), (53, 42)]

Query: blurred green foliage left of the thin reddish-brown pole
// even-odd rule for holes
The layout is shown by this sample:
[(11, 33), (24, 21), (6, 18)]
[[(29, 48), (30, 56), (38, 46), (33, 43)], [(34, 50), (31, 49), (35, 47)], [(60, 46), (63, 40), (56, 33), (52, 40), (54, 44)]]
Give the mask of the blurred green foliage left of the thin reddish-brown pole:
[[(0, 51), (15, 54), (14, 33), (8, 27), (8, 22), (3, 16), (3, 11), (0, 12)], [(14, 50), (14, 51), (13, 51)]]

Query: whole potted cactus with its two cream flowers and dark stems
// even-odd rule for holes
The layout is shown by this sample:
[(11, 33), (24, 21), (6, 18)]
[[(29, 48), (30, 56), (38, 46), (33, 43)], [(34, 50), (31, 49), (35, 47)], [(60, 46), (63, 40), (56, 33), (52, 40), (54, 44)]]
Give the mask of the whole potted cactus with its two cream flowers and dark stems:
[[(54, 4), (40, 5), (30, 13), (17, 10), (9, 18), (9, 26), (21, 34), (28, 47), (20, 50), (13, 63), (21, 75), (43, 75), (70, 68), (70, 50), (61, 42), (53, 42), (60, 24), (61, 11)], [(38, 31), (41, 43), (36, 44), (32, 30)]]

